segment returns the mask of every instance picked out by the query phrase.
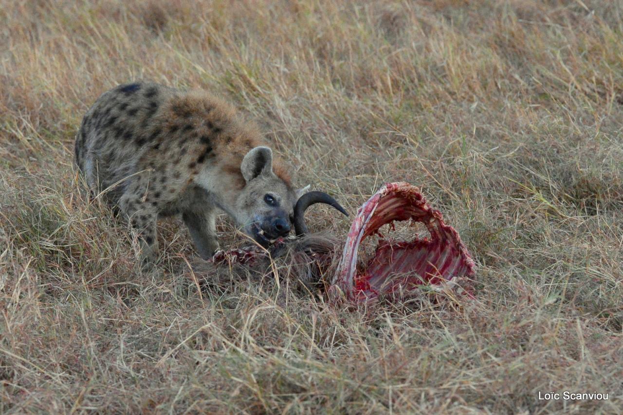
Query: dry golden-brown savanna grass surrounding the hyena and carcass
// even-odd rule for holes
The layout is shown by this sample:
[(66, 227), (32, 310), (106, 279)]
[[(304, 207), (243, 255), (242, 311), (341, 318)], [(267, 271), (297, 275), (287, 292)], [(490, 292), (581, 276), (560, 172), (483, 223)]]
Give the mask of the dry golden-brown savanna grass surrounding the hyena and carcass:
[[(621, 413), (622, 17), (600, 0), (0, 0), (0, 412)], [(226, 96), (351, 212), (383, 182), (421, 185), (477, 261), (475, 300), (198, 290), (175, 220), (158, 271), (136, 271), (72, 147), (95, 98), (138, 78)], [(222, 218), (222, 245), (234, 231)], [(565, 390), (609, 400), (537, 399)]]

